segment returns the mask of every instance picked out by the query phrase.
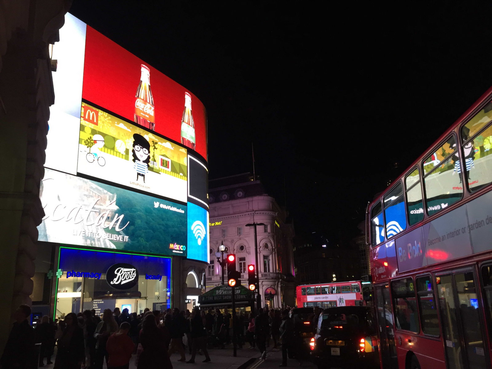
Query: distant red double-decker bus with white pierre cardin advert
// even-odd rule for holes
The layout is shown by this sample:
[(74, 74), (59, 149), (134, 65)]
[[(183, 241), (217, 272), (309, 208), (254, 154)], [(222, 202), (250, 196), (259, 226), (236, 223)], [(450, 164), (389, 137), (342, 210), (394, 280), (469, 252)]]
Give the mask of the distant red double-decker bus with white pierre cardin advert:
[(365, 305), (360, 280), (304, 284), (296, 287), (297, 307)]

